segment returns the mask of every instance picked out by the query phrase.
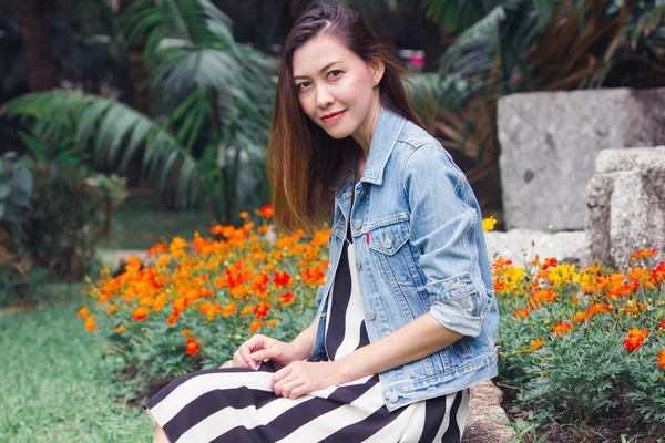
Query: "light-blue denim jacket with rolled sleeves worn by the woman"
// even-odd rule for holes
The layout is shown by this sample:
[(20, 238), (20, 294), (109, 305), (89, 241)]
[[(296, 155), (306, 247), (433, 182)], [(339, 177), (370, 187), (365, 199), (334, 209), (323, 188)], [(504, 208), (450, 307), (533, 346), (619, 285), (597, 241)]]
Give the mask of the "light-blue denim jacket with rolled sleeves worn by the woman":
[(308, 360), (327, 356), (323, 320), (350, 219), (370, 342), (426, 312), (464, 336), (380, 373), (388, 410), (495, 377), (499, 310), (481, 212), (464, 174), (434, 137), (386, 106), (351, 206), (355, 164), (330, 185), (337, 192), (329, 267), (316, 296), (320, 320)]

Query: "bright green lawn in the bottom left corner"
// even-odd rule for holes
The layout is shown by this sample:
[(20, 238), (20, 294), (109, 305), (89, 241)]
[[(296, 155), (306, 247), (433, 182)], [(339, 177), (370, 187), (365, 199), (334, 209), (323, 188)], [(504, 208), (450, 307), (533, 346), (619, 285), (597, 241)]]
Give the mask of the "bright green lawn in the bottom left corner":
[(25, 311), (0, 311), (0, 442), (149, 442), (153, 426), (141, 408), (116, 400), (117, 361), (85, 331), (69, 300)]

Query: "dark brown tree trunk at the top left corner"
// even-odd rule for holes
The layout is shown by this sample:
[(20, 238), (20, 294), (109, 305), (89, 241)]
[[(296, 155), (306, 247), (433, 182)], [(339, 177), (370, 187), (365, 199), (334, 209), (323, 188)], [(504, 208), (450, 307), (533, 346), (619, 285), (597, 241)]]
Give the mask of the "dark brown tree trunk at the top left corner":
[(30, 91), (51, 90), (57, 86), (47, 20), (52, 2), (51, 0), (21, 0), (17, 6)]

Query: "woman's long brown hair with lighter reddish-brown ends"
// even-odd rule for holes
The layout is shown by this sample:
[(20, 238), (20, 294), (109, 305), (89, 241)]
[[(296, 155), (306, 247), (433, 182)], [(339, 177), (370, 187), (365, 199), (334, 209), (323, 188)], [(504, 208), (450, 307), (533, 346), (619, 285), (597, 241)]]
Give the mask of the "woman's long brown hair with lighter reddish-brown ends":
[(266, 153), (275, 223), (287, 231), (323, 227), (331, 215), (335, 198), (328, 186), (345, 156), (360, 150), (350, 136), (341, 140), (329, 136), (305, 114), (298, 101), (293, 81), (294, 52), (321, 34), (336, 38), (366, 63), (382, 61), (386, 68), (379, 84), (381, 104), (428, 130), (407, 96), (402, 83), (408, 81), (407, 71), (360, 14), (339, 3), (310, 6), (286, 39)]

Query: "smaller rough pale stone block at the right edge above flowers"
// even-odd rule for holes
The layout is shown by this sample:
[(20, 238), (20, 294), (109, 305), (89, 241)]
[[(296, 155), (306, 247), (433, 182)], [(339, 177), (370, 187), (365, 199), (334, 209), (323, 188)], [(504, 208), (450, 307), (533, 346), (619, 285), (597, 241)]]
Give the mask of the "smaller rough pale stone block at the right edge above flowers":
[(637, 249), (665, 259), (665, 146), (604, 150), (595, 164), (585, 190), (589, 255), (615, 269)]

